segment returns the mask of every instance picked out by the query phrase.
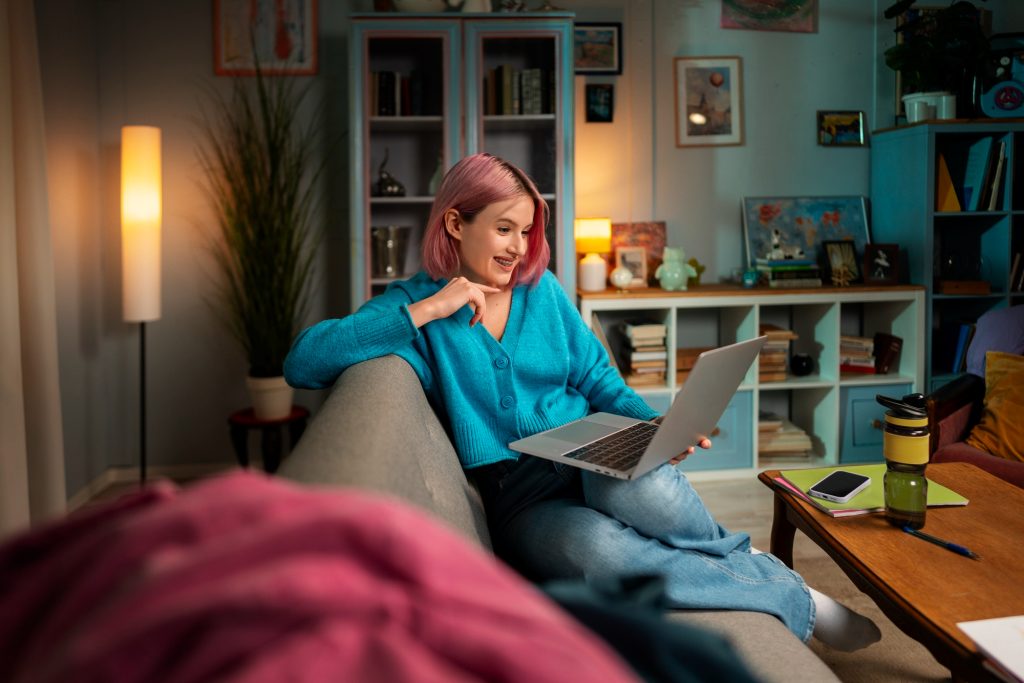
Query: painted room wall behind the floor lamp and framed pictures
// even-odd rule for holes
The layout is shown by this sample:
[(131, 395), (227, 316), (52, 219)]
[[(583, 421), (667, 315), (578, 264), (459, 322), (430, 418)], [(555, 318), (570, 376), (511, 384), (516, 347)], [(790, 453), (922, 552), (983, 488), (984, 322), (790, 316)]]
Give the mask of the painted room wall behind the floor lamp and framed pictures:
[[(319, 75), (313, 79), (327, 170), (324, 243), (311, 319), (347, 313), (347, 31), (371, 0), (321, 0)], [(578, 78), (580, 215), (666, 220), (670, 243), (729, 274), (741, 254), (739, 200), (756, 195), (867, 193), (870, 147), (815, 143), (818, 109), (859, 109), (888, 125), (891, 74), (874, 58), (891, 41), (888, 0), (821, 0), (816, 34), (725, 31), (718, 0), (561, 0), (581, 20), (623, 22), (625, 72)], [(1024, 3), (991, 0), (997, 31), (1020, 26)], [(58, 332), (68, 490), (137, 461), (137, 326), (121, 319), (118, 154), (120, 127), (164, 134), (163, 303), (146, 326), (148, 457), (172, 465), (229, 463), (226, 416), (247, 403), (241, 354), (206, 298), (210, 212), (196, 163), (212, 74), (209, 0), (37, 0), (57, 261)], [(744, 143), (677, 148), (672, 58), (743, 59)], [(615, 84), (615, 119), (586, 124), (586, 82)], [(315, 407), (321, 397), (300, 392)]]

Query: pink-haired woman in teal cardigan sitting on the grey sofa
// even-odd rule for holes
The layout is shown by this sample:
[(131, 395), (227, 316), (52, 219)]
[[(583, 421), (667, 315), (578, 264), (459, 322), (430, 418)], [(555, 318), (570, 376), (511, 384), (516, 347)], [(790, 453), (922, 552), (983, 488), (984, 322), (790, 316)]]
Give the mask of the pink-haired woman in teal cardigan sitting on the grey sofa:
[(356, 362), (404, 358), (480, 489), (496, 552), (531, 579), (660, 574), (672, 607), (764, 611), (842, 649), (878, 640), (870, 621), (720, 526), (675, 467), (625, 481), (508, 449), (592, 412), (656, 417), (547, 270), (548, 217), (514, 165), (463, 159), (434, 200), (424, 271), (303, 331), (289, 383), (326, 388)]

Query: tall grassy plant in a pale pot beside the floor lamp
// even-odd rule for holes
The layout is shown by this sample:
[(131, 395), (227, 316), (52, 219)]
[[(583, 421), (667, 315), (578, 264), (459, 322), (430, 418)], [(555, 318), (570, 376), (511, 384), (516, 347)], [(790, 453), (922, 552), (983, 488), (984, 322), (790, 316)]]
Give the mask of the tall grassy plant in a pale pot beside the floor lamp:
[(256, 417), (292, 410), (284, 361), (309, 304), (315, 127), (303, 124), (307, 88), (290, 78), (236, 79), (204, 113), (199, 159), (217, 227), (217, 301), (249, 361)]

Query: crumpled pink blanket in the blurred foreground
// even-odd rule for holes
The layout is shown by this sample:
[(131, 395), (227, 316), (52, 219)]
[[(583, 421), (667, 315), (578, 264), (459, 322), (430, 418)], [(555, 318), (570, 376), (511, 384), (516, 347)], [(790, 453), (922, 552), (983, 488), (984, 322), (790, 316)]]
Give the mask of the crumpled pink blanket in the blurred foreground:
[(239, 472), (0, 546), (7, 681), (626, 681), (601, 641), (403, 504)]

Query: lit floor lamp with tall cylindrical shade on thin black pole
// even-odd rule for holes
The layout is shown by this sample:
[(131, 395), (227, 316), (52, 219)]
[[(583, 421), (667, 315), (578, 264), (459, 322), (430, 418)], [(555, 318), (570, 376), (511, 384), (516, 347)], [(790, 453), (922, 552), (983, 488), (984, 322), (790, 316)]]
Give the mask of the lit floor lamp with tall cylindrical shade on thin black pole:
[(121, 128), (121, 273), (124, 319), (138, 323), (139, 481), (145, 483), (145, 324), (160, 319), (160, 129)]

